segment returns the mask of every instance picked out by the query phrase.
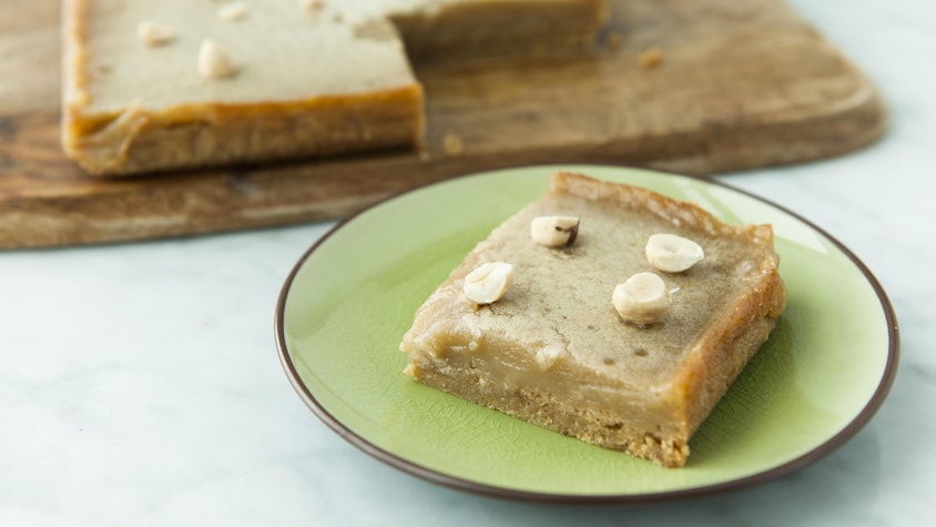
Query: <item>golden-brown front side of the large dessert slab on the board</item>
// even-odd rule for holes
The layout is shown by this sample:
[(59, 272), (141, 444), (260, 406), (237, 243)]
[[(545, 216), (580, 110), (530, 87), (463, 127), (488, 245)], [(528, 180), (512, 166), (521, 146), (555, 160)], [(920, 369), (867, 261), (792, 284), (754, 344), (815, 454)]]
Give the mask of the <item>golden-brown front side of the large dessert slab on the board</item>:
[(62, 143), (89, 173), (111, 176), (336, 155), (418, 144), (421, 108), (418, 84), (366, 95), (199, 104), (160, 113), (131, 105), (116, 114), (88, 114), (80, 103), (67, 103)]

